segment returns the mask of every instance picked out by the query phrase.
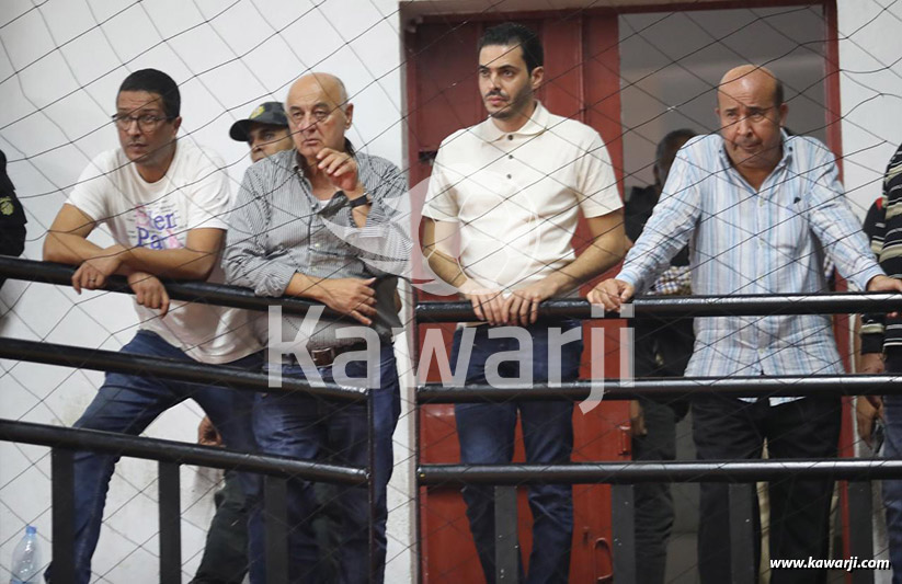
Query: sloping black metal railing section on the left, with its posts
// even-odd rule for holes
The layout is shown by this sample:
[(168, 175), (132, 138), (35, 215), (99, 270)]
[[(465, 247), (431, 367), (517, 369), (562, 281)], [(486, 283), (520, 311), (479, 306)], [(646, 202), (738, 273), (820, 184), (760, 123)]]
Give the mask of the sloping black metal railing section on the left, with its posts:
[[(70, 285), (72, 266), (20, 260), (0, 255), (0, 275), (55, 285)], [(296, 298), (262, 298), (246, 288), (207, 283), (163, 280), (172, 299), (206, 302), (250, 310), (267, 310), (281, 306), (283, 311), (304, 314), (311, 306)], [(125, 278), (110, 278), (107, 291), (130, 294)], [(326, 311), (331, 312), (327, 309)], [(332, 312), (334, 316), (335, 313)], [(247, 391), (295, 393), (342, 401), (365, 402), (368, 426), (368, 468), (329, 465), (287, 457), (244, 453), (220, 447), (197, 446), (180, 442), (137, 437), (125, 434), (66, 428), (0, 419), (0, 440), (48, 446), (52, 449), (53, 562), (54, 584), (72, 584), (75, 572), (75, 459), (77, 450), (109, 453), (159, 462), (159, 541), (160, 582), (181, 582), (181, 465), (196, 465), (263, 474), (262, 513), (278, 520), (265, 522), (265, 562), (267, 584), (288, 582), (288, 481), (307, 480), (369, 489), (369, 558), (375, 561), (375, 482), (373, 451), (373, 406), (369, 389), (346, 388), (333, 382), (310, 385), (299, 379), (282, 377), (277, 387), (262, 371), (238, 367), (180, 362), (162, 357), (125, 354), (114, 351), (84, 348), (54, 343), (0, 339), (0, 358), (43, 363), (79, 369), (153, 376), (197, 383), (217, 385)]]

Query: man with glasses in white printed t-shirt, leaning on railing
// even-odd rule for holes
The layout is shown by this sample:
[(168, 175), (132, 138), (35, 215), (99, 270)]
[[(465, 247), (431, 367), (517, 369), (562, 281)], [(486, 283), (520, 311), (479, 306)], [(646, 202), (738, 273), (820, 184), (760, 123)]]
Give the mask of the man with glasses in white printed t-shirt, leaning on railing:
[[(125, 275), (140, 321), (122, 351), (259, 370), (261, 345), (244, 311), (170, 304), (159, 277), (222, 282), (219, 254), (230, 206), (228, 178), (215, 153), (176, 141), (179, 88), (144, 69), (119, 87), (113, 119), (121, 148), (98, 156), (79, 178), (44, 242), (44, 259), (78, 265), (72, 286), (102, 288)], [(101, 222), (115, 244), (88, 236)], [(253, 393), (152, 376), (107, 374), (76, 427), (139, 434), (167, 409), (195, 400), (230, 448), (254, 450)], [(76, 582), (88, 584), (106, 490), (118, 457), (76, 455)], [(251, 489), (250, 480), (246, 481)], [(50, 581), (52, 571), (47, 580)]]

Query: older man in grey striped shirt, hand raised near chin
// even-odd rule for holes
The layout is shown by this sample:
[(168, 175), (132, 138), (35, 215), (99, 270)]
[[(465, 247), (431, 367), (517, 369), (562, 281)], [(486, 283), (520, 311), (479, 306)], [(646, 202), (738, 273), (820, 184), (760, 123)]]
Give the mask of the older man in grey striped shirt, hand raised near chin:
[[(391, 330), (400, 322), (393, 301), (397, 278), (374, 265), (384, 265), (387, 257), (403, 262), (409, 256), (408, 218), (399, 217), (397, 210), (407, 184), (397, 167), (354, 151), (344, 137), (353, 105), (336, 77), (313, 73), (300, 78), (285, 105), (295, 148), (248, 169), (229, 221), (226, 272), (232, 284), (253, 288), (258, 295), (308, 298), (342, 314), (320, 319), (311, 311), (304, 319), (271, 318), (269, 334), (263, 327), (259, 334), (267, 337), (271, 348), (282, 345), (286, 333), (294, 343), (290, 355), (269, 364), (271, 370), (311, 382), (334, 380), (343, 374), (346, 380), (374, 391), (379, 569), (372, 576), (381, 582), (391, 435), (400, 414)], [(260, 396), (254, 433), (267, 453), (310, 460), (330, 456), (338, 463), (367, 465), (364, 405), (305, 396)], [(369, 582), (367, 490), (343, 488), (338, 496), (343, 515), (338, 580)], [(292, 481), (288, 549), (293, 583), (326, 577), (321, 571), (324, 558), (310, 525), (315, 506), (311, 484)], [(255, 512), (251, 529), (262, 529), (264, 522)], [(251, 580), (262, 584), (262, 550), (251, 553)]]

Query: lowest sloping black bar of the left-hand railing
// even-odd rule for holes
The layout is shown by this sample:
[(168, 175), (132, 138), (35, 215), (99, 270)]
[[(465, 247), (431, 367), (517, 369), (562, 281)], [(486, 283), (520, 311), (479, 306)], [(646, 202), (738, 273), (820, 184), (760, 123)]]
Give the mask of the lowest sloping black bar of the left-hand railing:
[(271, 474), (286, 479), (304, 479), (336, 484), (365, 484), (363, 468), (326, 465), (282, 456), (242, 453), (218, 446), (198, 446), (175, 440), (162, 440), (100, 432), (33, 424), (0, 419), (0, 440), (37, 444), (53, 448), (70, 448), (109, 453), (132, 458), (196, 465), (225, 470)]

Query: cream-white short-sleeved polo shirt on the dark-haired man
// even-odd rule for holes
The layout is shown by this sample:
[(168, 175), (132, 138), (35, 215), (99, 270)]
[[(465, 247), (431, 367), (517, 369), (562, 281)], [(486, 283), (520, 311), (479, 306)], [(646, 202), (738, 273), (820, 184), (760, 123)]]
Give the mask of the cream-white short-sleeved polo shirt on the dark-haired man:
[[(623, 207), (598, 133), (540, 103), (518, 130), (491, 118), (442, 142), (423, 215), (453, 221), (465, 273), (489, 288), (522, 288), (575, 259), (579, 211)], [(575, 293), (574, 293), (575, 294)]]

